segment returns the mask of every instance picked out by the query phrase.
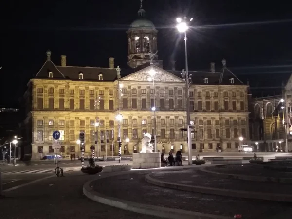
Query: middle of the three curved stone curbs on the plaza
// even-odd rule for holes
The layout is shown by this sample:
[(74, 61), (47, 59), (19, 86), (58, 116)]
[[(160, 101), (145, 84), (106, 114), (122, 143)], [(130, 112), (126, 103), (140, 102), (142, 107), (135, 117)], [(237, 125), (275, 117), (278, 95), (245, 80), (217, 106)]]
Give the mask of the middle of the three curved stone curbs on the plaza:
[(292, 202), (292, 195), (279, 194), (279, 193), (262, 193), (262, 192), (254, 192), (254, 191), (240, 191), (240, 190), (212, 188), (212, 187), (203, 187), (203, 186), (194, 186), (194, 185), (183, 185), (179, 183), (168, 183), (168, 182), (154, 179), (150, 175), (151, 173), (146, 175), (145, 177), (146, 182), (151, 183), (153, 185), (165, 187), (165, 188), (183, 190), (183, 191), (188, 191), (188, 192), (211, 194), (211, 195), (236, 197), (236, 198)]

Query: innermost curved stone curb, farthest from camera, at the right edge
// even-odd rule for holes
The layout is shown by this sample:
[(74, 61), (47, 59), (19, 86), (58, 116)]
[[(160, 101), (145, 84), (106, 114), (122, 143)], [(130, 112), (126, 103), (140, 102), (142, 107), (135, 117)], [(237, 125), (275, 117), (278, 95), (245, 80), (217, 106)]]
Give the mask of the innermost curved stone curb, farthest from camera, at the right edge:
[(264, 177), (264, 176), (249, 176), (249, 175), (238, 175), (230, 173), (218, 173), (210, 170), (206, 170), (207, 167), (201, 168), (198, 172), (205, 173), (208, 175), (216, 176), (224, 179), (235, 179), (235, 180), (247, 180), (247, 181), (258, 181), (258, 182), (274, 182), (274, 183), (292, 183), (292, 178), (280, 178), (280, 177)]

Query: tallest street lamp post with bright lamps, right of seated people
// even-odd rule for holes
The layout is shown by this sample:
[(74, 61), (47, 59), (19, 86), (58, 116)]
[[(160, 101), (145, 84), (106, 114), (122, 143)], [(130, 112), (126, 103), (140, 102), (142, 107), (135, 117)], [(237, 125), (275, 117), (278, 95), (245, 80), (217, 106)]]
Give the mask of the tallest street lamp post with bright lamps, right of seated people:
[[(193, 18), (190, 18), (189, 21), (192, 21)], [(190, 84), (190, 78), (188, 74), (188, 62), (187, 62), (187, 37), (186, 37), (186, 31), (188, 29), (187, 25), (187, 18), (184, 17), (183, 20), (182, 18), (177, 18), (176, 21), (178, 22), (177, 29), (179, 32), (184, 33), (184, 53), (185, 53), (185, 72), (181, 73), (182, 76), (185, 78), (185, 92), (186, 92), (186, 120), (187, 120), (187, 133), (188, 133), (188, 163), (189, 165), (192, 165), (192, 139), (189, 138), (191, 135), (189, 134), (190, 132), (190, 125), (191, 125), (191, 119), (190, 119), (190, 108), (189, 108), (189, 84)]]

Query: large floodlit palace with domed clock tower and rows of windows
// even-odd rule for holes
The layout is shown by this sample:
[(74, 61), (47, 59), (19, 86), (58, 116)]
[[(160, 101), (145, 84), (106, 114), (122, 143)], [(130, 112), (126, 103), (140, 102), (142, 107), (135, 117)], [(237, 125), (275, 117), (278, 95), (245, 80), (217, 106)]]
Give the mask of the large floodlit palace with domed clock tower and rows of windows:
[[(154, 114), (150, 110), (154, 99), (158, 150), (187, 152), (187, 136), (180, 130), (186, 128), (182, 71), (162, 68), (163, 61), (157, 54), (158, 31), (145, 18), (143, 8), (138, 15), (127, 31), (128, 69), (116, 68), (113, 58), (109, 59), (109, 68), (67, 66), (65, 55), (56, 66), (51, 52), (47, 52), (47, 61), (25, 93), (32, 159), (39, 159), (41, 151), (44, 155), (53, 153), (55, 130), (61, 132), (63, 154), (80, 154), (76, 140), (84, 131), (85, 154), (90, 154), (90, 147), (95, 145), (99, 156), (117, 155), (119, 110), (123, 116), (122, 155), (139, 152), (144, 133), (154, 134)], [(222, 65), (220, 72), (215, 71), (214, 63), (209, 72), (189, 71), (191, 124), (196, 130), (192, 134), (194, 152), (216, 151), (218, 147), (237, 151), (238, 138), (249, 139), (248, 86), (228, 70), (225, 60)], [(155, 71), (154, 87), (148, 80), (150, 71)], [(97, 119), (99, 126), (95, 127)]]

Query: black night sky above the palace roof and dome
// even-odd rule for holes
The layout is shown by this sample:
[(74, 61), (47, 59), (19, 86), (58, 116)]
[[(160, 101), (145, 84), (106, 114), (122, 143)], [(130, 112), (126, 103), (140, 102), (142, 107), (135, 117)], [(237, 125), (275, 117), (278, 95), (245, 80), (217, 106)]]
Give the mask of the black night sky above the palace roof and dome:
[[(125, 32), (137, 18), (139, 0), (9, 0), (1, 4), (0, 105), (18, 104), (27, 82), (46, 60), (47, 49), (56, 65), (64, 54), (67, 65), (108, 67), (112, 56), (116, 64), (127, 67)], [(216, 62), (220, 70), (225, 58), (227, 67), (254, 87), (262, 86), (261, 78), (281, 81), (283, 73), (291, 72), (288, 3), (144, 0), (144, 9), (159, 30), (158, 50), (166, 69), (172, 57), (177, 69), (184, 68), (183, 40), (178, 40), (173, 26), (176, 17), (187, 15), (194, 18), (195, 26), (188, 33), (189, 69), (208, 69), (210, 62)]]

